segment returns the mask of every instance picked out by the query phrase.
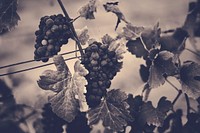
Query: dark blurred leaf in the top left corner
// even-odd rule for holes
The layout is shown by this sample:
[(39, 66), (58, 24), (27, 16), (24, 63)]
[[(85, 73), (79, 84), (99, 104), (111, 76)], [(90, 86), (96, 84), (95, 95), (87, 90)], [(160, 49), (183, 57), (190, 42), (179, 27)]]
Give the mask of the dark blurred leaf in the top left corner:
[(0, 1), (0, 33), (9, 31), (18, 24), (17, 0)]

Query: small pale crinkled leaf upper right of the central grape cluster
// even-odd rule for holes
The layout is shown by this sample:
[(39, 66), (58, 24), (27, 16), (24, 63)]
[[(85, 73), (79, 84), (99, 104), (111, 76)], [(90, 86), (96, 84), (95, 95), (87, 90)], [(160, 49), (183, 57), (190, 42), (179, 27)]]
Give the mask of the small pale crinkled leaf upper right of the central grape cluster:
[(133, 26), (131, 23), (127, 23), (126, 27), (123, 27), (121, 33), (118, 34), (118, 38), (126, 38), (126, 40), (135, 40), (140, 37), (144, 27)]

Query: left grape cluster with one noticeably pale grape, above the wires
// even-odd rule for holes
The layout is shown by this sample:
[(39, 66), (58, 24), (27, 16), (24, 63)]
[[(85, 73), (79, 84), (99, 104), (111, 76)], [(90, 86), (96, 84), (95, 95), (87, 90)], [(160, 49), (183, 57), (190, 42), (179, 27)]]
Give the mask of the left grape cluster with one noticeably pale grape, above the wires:
[(62, 45), (67, 44), (68, 39), (72, 38), (69, 20), (62, 14), (44, 16), (35, 35), (34, 59), (47, 62), (49, 57), (60, 52)]

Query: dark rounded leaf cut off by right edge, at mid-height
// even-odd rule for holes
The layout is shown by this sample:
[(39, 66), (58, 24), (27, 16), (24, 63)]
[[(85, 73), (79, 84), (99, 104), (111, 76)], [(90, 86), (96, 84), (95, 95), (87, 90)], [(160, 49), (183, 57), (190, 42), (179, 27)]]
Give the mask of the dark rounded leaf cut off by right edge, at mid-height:
[(191, 98), (200, 96), (200, 65), (195, 62), (185, 62), (180, 69), (182, 90)]

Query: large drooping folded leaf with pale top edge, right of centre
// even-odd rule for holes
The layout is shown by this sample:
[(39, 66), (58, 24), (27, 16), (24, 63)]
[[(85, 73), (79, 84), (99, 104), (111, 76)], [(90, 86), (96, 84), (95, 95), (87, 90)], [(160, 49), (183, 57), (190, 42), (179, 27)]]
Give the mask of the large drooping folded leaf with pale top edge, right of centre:
[(163, 75), (172, 76), (176, 74), (178, 68), (175, 65), (174, 54), (168, 51), (161, 51), (154, 59), (148, 79), (150, 88), (157, 88), (165, 83)]

